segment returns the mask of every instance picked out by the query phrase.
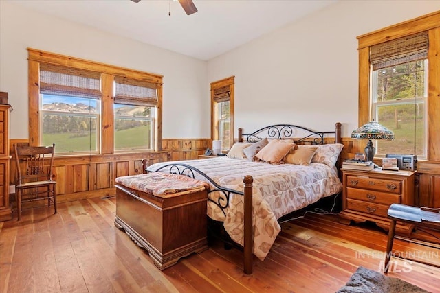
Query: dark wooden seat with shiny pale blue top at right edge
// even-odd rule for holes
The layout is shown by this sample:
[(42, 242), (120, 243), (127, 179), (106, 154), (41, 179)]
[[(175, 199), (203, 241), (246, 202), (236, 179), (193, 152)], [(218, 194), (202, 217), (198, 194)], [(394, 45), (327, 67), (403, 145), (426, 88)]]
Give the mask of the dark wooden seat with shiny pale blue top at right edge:
[[(391, 250), (393, 249), (396, 222), (400, 221), (423, 228), (440, 230), (440, 208), (410, 207), (405, 204), (391, 204), (388, 209), (388, 218), (391, 219), (391, 225), (388, 231), (388, 242), (386, 244), (384, 272), (388, 272), (388, 263), (390, 262)], [(431, 265), (436, 266), (434, 264)]]

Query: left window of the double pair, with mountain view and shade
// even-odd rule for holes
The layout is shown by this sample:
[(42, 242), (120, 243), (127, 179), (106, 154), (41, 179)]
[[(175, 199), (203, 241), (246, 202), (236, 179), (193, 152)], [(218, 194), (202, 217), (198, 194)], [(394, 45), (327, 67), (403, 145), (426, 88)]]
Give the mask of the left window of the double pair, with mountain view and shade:
[(40, 65), (41, 145), (57, 153), (98, 152), (101, 74)]

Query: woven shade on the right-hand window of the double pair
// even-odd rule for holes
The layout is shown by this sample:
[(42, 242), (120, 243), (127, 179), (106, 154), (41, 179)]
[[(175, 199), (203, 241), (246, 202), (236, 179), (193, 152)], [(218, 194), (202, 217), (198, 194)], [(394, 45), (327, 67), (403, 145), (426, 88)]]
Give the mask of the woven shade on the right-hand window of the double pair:
[(157, 84), (115, 76), (115, 103), (157, 106)]

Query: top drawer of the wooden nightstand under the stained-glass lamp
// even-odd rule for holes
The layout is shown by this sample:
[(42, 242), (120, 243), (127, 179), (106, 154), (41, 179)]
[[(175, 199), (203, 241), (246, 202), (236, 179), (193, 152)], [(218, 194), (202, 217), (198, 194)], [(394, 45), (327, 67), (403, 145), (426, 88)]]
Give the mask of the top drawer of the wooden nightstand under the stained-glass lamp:
[(347, 187), (392, 192), (393, 194), (401, 194), (401, 181), (399, 180), (384, 180), (380, 178), (364, 178), (360, 176), (347, 176)]

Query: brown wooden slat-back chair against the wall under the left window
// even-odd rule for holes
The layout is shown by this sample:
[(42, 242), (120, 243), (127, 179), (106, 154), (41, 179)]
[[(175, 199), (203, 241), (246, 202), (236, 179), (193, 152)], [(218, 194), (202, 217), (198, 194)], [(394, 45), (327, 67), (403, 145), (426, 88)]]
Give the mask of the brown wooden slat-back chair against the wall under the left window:
[(55, 143), (52, 146), (17, 146), (14, 144), (18, 181), (17, 195), (18, 220), (21, 219), (21, 204), (35, 200), (54, 203), (56, 213), (56, 181), (52, 180)]

